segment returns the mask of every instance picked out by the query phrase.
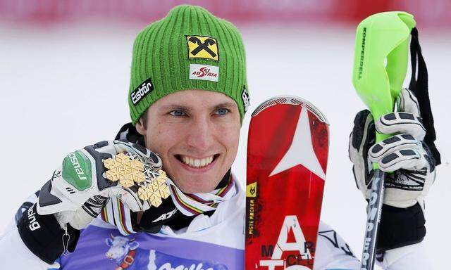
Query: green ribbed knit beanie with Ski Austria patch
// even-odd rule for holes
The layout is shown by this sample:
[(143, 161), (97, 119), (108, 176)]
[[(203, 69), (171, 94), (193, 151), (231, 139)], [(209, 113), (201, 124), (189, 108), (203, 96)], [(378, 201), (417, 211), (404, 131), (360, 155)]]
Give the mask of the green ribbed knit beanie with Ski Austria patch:
[(199, 6), (176, 6), (148, 25), (133, 44), (128, 104), (135, 124), (159, 98), (202, 89), (226, 94), (241, 119), (249, 107), (240, 32)]

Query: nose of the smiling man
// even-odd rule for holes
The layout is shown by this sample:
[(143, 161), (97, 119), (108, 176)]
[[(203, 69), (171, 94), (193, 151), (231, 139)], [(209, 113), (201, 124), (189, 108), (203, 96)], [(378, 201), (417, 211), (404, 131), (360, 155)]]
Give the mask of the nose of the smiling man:
[(208, 150), (214, 141), (214, 127), (206, 117), (198, 117), (192, 121), (187, 138), (188, 146), (202, 151)]

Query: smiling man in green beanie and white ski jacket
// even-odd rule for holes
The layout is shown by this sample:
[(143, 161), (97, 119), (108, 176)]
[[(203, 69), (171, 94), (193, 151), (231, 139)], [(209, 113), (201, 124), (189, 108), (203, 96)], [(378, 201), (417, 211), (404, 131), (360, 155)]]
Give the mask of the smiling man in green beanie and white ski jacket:
[[(135, 39), (128, 99), (132, 123), (119, 131), (121, 141), (101, 141), (63, 160), (1, 238), (2, 267), (243, 269), (245, 200), (230, 173), (247, 110), (239, 32), (203, 8), (173, 8)], [(403, 90), (400, 101), (412, 120), (392, 114), (377, 120), (376, 128), (412, 136), (373, 145), (374, 122), (362, 111), (354, 121), (350, 157), (366, 198), (371, 162), (395, 172), (387, 191), (390, 214), (383, 220), (389, 229), (381, 232), (382, 264), (427, 269), (420, 256), (424, 215), (418, 202), (433, 181), (433, 159), (421, 144), (416, 99)], [(397, 151), (404, 152), (387, 159)], [(143, 200), (139, 189), (109, 181), (109, 163), (102, 160), (123, 152), (145, 160), (144, 167), (154, 169), (146, 172), (164, 179), (171, 198), (159, 205), (158, 198)], [(424, 188), (409, 191), (405, 187), (420, 171)], [(158, 185), (164, 197), (166, 187)], [(319, 230), (316, 269), (359, 268), (334, 231), (322, 223)]]

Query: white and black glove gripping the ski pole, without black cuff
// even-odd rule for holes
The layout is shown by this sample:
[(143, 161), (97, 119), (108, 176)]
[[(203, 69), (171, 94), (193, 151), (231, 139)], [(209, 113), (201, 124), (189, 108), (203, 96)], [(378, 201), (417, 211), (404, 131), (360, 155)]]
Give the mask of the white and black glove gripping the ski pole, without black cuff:
[[(390, 172), (385, 175), (385, 205), (407, 208), (418, 202), (424, 208), (424, 197), (435, 179), (435, 160), (423, 141), (426, 129), (412, 91), (402, 89), (397, 108), (397, 113), (383, 115), (376, 123), (369, 110), (357, 113), (349, 145), (354, 178), (368, 199), (373, 163), (377, 163), (383, 172)], [(394, 135), (375, 143), (375, 130)]]

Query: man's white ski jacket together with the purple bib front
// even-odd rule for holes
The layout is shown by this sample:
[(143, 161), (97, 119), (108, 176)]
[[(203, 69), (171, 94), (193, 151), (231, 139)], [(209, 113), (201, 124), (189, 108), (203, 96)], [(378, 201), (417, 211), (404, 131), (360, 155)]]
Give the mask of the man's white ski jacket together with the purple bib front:
[[(156, 234), (122, 236), (113, 225), (97, 218), (80, 235), (75, 252), (54, 264), (42, 262), (20, 239), (15, 222), (0, 238), (1, 269), (152, 269), (240, 270), (245, 260), (245, 194), (240, 185), (235, 197), (218, 205), (211, 217), (201, 214), (189, 226), (173, 231), (163, 226)], [(35, 203), (36, 195), (29, 200)], [(23, 211), (25, 211), (23, 209)], [(422, 243), (389, 250), (383, 269), (431, 269)], [(272, 269), (271, 269), (272, 268)], [(283, 266), (259, 266), (278, 270)], [(297, 270), (297, 266), (285, 269)], [(344, 240), (324, 223), (319, 225), (314, 269), (359, 269), (359, 260)], [(250, 270), (250, 269), (249, 269)]]

